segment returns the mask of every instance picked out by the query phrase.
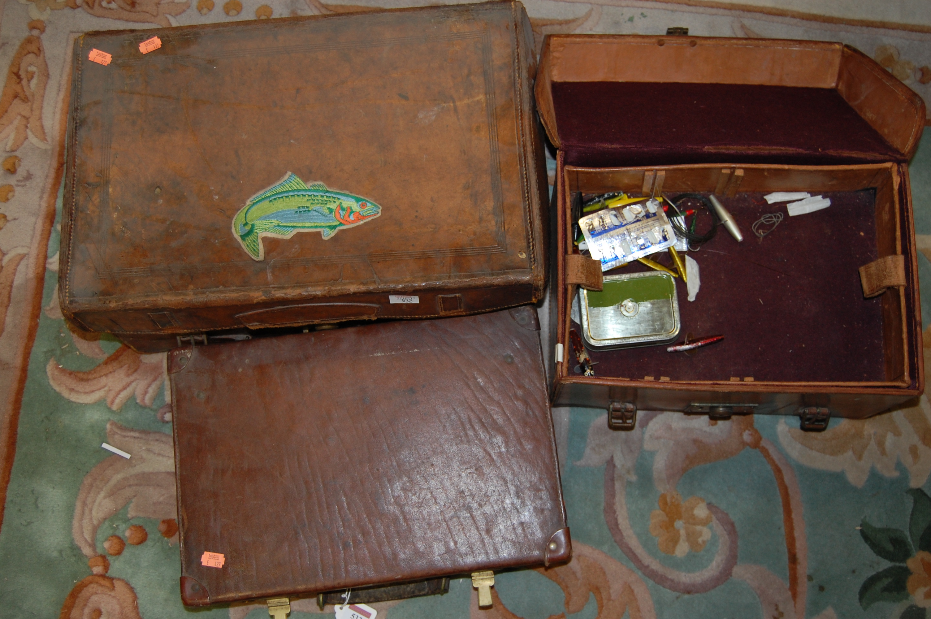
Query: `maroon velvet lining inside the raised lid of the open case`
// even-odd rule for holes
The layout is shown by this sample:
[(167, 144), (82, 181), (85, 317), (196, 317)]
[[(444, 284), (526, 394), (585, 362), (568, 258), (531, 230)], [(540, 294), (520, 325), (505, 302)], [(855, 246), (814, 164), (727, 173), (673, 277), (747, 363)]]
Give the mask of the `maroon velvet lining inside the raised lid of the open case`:
[(906, 161), (831, 88), (555, 82), (566, 164)]

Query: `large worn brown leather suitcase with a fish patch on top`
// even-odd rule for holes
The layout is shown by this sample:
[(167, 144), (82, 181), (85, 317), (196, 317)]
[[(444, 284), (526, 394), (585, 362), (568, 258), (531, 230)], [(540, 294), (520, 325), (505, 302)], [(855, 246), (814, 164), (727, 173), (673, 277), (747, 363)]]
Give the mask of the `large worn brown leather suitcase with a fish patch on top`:
[(79, 37), (62, 312), (155, 352), (534, 303), (532, 44), (519, 2)]

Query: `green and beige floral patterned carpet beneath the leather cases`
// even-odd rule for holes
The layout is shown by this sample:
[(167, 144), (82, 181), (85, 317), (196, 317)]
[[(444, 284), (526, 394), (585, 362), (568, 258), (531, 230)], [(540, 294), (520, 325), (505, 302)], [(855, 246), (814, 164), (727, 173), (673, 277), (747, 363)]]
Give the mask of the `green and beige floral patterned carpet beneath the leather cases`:
[[(178, 589), (164, 356), (140, 356), (106, 337), (76, 337), (55, 294), (71, 42), (88, 30), (362, 7), (194, 1), (2, 5), (2, 617), (195, 616), (183, 609)], [(546, 33), (659, 34), (668, 26), (697, 35), (843, 41), (931, 102), (931, 16), (921, 23), (876, 20), (873, 13), (822, 17), (819, 3), (809, 4), (804, 13), (698, 0), (526, 6), (538, 45)], [(931, 290), (931, 135), (911, 177), (922, 283)], [(924, 308), (929, 325), (928, 293)], [(931, 330), (924, 342), (927, 359)], [(820, 435), (802, 434), (796, 420), (763, 416), (713, 423), (647, 412), (631, 433), (609, 431), (601, 410), (557, 410), (555, 417), (573, 560), (500, 574), (490, 611), (477, 609), (470, 583), (460, 579), (442, 597), (377, 604), (380, 619), (931, 616), (927, 397), (866, 422), (834, 420)], [(133, 457), (101, 450), (103, 441)], [(319, 613), (315, 600), (292, 609), (293, 617)], [(196, 616), (268, 615), (238, 605)]]

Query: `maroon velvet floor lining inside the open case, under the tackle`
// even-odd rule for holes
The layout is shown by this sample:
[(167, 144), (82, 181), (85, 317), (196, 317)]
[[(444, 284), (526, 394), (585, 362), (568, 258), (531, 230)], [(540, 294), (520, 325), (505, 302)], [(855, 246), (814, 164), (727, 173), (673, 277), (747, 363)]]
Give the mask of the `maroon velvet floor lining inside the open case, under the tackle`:
[[(786, 213), (762, 194), (722, 202), (744, 241), (722, 227), (701, 250), (689, 252), (701, 269), (701, 290), (687, 301), (677, 280), (681, 342), (724, 335), (689, 354), (666, 345), (591, 351), (596, 376), (657, 381), (861, 382), (885, 381), (880, 298), (864, 299), (857, 269), (876, 259), (872, 190), (824, 194), (828, 209), (786, 216), (762, 242), (750, 226), (764, 213)], [(675, 195), (671, 195), (674, 197)], [(699, 227), (701, 224), (699, 223)], [(669, 264), (668, 256), (659, 259)], [(631, 264), (613, 273), (646, 270)], [(573, 323), (573, 329), (580, 329)], [(581, 330), (580, 330), (581, 333)]]

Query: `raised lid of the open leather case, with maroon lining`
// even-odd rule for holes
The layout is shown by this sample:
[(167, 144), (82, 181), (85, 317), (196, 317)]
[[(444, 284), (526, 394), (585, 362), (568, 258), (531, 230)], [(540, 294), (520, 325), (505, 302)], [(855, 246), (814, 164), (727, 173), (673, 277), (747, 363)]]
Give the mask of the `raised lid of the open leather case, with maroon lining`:
[(566, 164), (907, 161), (924, 101), (839, 43), (550, 35), (537, 106)]

